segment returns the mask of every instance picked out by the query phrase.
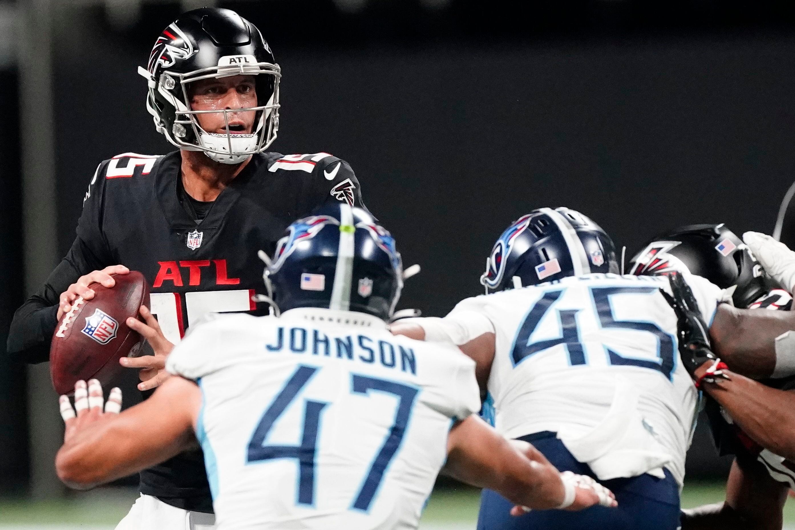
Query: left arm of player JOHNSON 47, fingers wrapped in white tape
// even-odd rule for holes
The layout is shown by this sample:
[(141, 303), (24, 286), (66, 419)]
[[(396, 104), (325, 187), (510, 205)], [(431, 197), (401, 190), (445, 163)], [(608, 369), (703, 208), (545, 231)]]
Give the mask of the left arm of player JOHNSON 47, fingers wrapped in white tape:
[[(94, 386), (99, 387), (99, 382)], [(192, 381), (171, 377), (148, 400), (118, 415), (102, 413), (101, 387), (98, 402), (96, 390), (93, 394), (95, 403), (91, 403), (91, 397), (81, 402), (83, 397), (76, 387), (77, 417), (64, 417), (67, 428), (64, 445), (56, 455), (56, 471), (72, 488), (89, 489), (111, 482), (196, 444), (193, 427), (202, 398)], [(71, 410), (65, 399), (65, 407)], [(62, 414), (65, 407), (61, 397)]]

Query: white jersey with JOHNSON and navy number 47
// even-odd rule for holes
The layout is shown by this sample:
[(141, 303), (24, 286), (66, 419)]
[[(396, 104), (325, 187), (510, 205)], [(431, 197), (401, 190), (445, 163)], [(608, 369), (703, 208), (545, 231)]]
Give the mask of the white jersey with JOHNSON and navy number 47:
[(348, 311), (219, 315), (167, 369), (204, 397), (219, 530), (417, 528), (452, 422), (480, 408), (460, 350)]

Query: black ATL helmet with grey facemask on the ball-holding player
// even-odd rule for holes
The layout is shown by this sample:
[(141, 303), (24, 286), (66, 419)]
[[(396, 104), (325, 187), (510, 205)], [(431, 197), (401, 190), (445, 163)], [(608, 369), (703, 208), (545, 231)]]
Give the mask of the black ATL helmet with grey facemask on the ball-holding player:
[[(146, 109), (157, 132), (180, 149), (239, 164), (276, 139), (281, 69), (256, 26), (235, 11), (204, 7), (182, 14), (157, 37), (147, 68), (138, 72), (149, 82)], [(191, 109), (190, 83), (229, 75), (254, 75), (258, 106), (246, 109), (257, 113), (251, 134), (230, 133), (229, 113), (239, 109)], [(199, 126), (196, 114), (207, 112), (223, 112), (225, 134)]]

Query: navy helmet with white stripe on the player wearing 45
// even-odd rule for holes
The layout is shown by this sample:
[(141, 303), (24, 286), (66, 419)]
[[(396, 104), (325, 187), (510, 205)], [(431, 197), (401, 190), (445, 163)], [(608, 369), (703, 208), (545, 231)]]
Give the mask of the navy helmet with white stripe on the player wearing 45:
[(488, 294), (589, 273), (619, 273), (610, 236), (578, 211), (540, 208), (502, 232), (480, 283)]

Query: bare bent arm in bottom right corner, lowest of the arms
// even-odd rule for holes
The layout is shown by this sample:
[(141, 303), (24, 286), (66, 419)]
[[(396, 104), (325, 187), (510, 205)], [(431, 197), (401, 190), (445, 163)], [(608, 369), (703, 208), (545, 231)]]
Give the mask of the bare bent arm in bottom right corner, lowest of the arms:
[(731, 464), (726, 501), (682, 510), (681, 530), (781, 530), (787, 486), (750, 457)]

